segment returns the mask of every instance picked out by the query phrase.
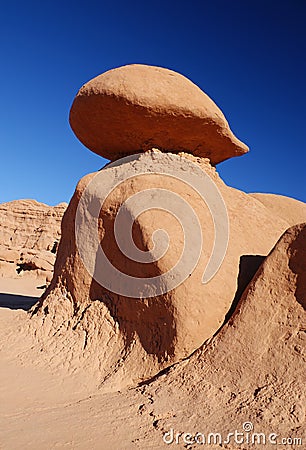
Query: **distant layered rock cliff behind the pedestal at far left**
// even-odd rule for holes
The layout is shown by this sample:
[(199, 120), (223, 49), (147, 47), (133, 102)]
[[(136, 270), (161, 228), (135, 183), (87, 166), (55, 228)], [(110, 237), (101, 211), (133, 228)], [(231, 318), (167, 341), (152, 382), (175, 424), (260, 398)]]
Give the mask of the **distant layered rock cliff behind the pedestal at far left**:
[(0, 205), (1, 277), (51, 280), (66, 207), (66, 203), (52, 207), (35, 200)]

